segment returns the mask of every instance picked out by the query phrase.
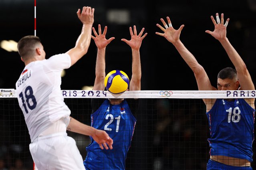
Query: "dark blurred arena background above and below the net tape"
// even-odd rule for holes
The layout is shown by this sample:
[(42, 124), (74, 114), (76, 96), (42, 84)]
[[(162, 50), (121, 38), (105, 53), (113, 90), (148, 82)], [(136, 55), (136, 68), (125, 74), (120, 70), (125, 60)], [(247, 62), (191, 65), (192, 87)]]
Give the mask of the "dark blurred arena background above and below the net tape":
[[(170, 0), (164, 3), (146, 0), (36, 0), (36, 36), (44, 45), (46, 58), (65, 53), (75, 46), (82, 28), (76, 12), (83, 6), (95, 8), (93, 26), (96, 30), (98, 24), (102, 29), (108, 26), (106, 38), (115, 37), (106, 49), (106, 73), (120, 69), (131, 78), (131, 49), (121, 39), (130, 40), (130, 26), (136, 25), (137, 32), (145, 28), (144, 33), (148, 35), (140, 48), (141, 90), (198, 89), (193, 72), (173, 45), (155, 34), (161, 32), (156, 24), (161, 24), (160, 18), (166, 16), (170, 17), (175, 29), (185, 25), (180, 39), (216, 87), (218, 72), (224, 67), (234, 67), (218, 40), (205, 33), (214, 30), (210, 16), (217, 12), (219, 15), (224, 13), (225, 21), (230, 18), (227, 37), (256, 84), (256, 0)], [(34, 0), (0, 0), (0, 21), (0, 89), (15, 89), (24, 63), (11, 43), (18, 42), (23, 36), (34, 35)], [(3, 49), (3, 44), (9, 48)], [(61, 88), (80, 90), (84, 86), (93, 86), (96, 56), (97, 47), (92, 40), (88, 53), (65, 70)], [(90, 100), (65, 99), (65, 102), (72, 108), (75, 118), (90, 124)], [(209, 128), (201, 100), (148, 99), (142, 101), (141, 107), (135, 114), (137, 124), (127, 155), (127, 169), (206, 169)], [(4, 136), (0, 140), (0, 169), (4, 163), (7, 164), (5, 167), (16, 170), (32, 166), (28, 150), (30, 138), (23, 119), (16, 100), (0, 100), (0, 136)], [(78, 134), (69, 135), (76, 138), (85, 158), (85, 147), (90, 139)], [(2, 161), (1, 156), (7, 152), (14, 154), (5, 155)], [(254, 162), (252, 166), (255, 166)]]

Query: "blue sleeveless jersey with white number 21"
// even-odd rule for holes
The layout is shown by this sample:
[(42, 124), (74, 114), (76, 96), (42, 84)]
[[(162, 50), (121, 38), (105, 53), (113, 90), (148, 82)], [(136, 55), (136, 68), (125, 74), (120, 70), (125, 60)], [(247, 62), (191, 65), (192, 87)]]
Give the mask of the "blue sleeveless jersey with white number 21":
[(124, 100), (119, 105), (111, 105), (106, 99), (91, 115), (91, 126), (105, 130), (113, 139), (113, 149), (101, 150), (99, 144), (91, 138), (86, 147), (84, 161), (87, 170), (124, 170), (125, 159), (131, 145), (136, 119)]

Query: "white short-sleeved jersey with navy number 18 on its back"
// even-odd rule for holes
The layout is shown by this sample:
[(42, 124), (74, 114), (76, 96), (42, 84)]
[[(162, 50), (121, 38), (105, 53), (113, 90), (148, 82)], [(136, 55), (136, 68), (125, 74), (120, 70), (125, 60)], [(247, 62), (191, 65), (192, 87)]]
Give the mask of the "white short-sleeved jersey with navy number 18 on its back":
[(68, 54), (58, 54), (26, 65), (16, 82), (18, 103), (33, 141), (62, 117), (69, 124), (71, 111), (60, 91), (61, 72), (71, 66)]

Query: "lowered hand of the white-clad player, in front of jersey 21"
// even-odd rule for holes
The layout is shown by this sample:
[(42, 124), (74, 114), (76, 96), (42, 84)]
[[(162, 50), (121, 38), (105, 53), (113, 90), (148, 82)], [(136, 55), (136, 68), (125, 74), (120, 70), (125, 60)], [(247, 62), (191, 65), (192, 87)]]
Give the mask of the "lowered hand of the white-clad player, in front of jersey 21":
[[(95, 134), (91, 135), (93, 140), (97, 142), (101, 149), (113, 149), (113, 139), (109, 137), (104, 130), (97, 130)], [(103, 148), (104, 146), (104, 148)], [(108, 147), (109, 146), (109, 147)]]

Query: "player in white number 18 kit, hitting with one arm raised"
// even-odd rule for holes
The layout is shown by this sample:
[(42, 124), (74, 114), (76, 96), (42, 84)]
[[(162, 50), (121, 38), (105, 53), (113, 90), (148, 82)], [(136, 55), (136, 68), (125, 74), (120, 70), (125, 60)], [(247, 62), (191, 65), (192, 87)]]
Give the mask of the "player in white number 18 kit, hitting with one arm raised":
[(90, 135), (101, 149), (112, 149), (113, 140), (105, 131), (69, 116), (71, 111), (61, 94), (62, 70), (83, 57), (91, 41), (94, 8), (83, 7), (77, 15), (83, 23), (82, 32), (75, 47), (67, 53), (45, 59), (38, 37), (25, 36), (18, 42), (18, 52), (25, 67), (16, 82), (16, 93), (30, 134), (30, 153), (38, 170), (85, 169), (76, 142), (67, 136), (66, 130)]

